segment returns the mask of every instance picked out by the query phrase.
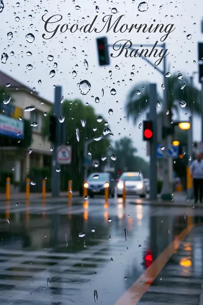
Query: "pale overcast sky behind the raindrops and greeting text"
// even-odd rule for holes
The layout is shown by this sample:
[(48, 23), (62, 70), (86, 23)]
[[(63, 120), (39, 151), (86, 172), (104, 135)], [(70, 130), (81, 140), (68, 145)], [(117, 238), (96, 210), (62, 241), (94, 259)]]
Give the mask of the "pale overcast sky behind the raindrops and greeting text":
[[(138, 128), (145, 117), (140, 115), (137, 124), (133, 126), (131, 122), (124, 119), (124, 105), (129, 89), (141, 81), (156, 82), (160, 94), (162, 94), (162, 75), (141, 58), (125, 58), (123, 54), (117, 58), (111, 58), (111, 63), (106, 68), (100, 67), (96, 52), (96, 38), (107, 36), (109, 44), (114, 44), (122, 39), (130, 39), (134, 44), (154, 44), (156, 41), (161, 43), (160, 39), (163, 34), (159, 32), (137, 33), (136, 31), (117, 34), (113, 31), (107, 34), (105, 31), (99, 34), (95, 32), (83, 33), (82, 31), (60, 33), (58, 30), (52, 39), (44, 40), (42, 34), (46, 32), (41, 17), (46, 14), (44, 17), (46, 20), (55, 14), (61, 14), (63, 19), (61, 22), (55, 23), (56, 25), (78, 23), (81, 26), (91, 23), (98, 15), (95, 26), (102, 29), (104, 25), (102, 18), (112, 14), (112, 8), (116, 8), (117, 13), (113, 14), (113, 21), (116, 21), (120, 15), (125, 15), (121, 25), (123, 23), (129, 24), (129, 26), (132, 23), (147, 23), (150, 26), (152, 23), (163, 23), (166, 26), (169, 23), (174, 23), (175, 30), (165, 40), (169, 52), (166, 57), (167, 70), (171, 73), (181, 71), (183, 75), (191, 76), (193, 71), (198, 71), (197, 42), (203, 41), (201, 33), (203, 2), (148, 0), (146, 1), (148, 9), (145, 12), (138, 10), (141, 1), (137, 0), (124, 2), (121, 0), (19, 0), (20, 5), (17, 4), (17, 1), (3, 0), (3, 2), (4, 9), (0, 13), (0, 53), (5, 52), (9, 57), (6, 64), (0, 64), (0, 69), (27, 86), (36, 87), (40, 95), (50, 101), (53, 101), (54, 97), (53, 85), (61, 85), (64, 98), (80, 98), (83, 102), (94, 106), (96, 112), (102, 114), (109, 122), (114, 139), (131, 134), (130, 137), (137, 147), (138, 153), (142, 157), (146, 157), (146, 144), (142, 141), (142, 130)], [(99, 6), (98, 13), (96, 5)], [(76, 6), (80, 6), (80, 9), (76, 9)], [(16, 17), (19, 17), (20, 20), (18, 21), (17, 18), (16, 21)], [(56, 27), (56, 25), (54, 26)], [(7, 37), (8, 32), (13, 33), (11, 40)], [(26, 41), (25, 36), (28, 33), (35, 36), (33, 43)], [(192, 35), (190, 40), (187, 39), (189, 34)], [(46, 35), (50, 34), (46, 33)], [(10, 55), (12, 51), (14, 56)], [(32, 52), (32, 56), (26, 55), (28, 51)], [(112, 51), (111, 49), (110, 53)], [(48, 55), (54, 56), (52, 62), (48, 61)], [(88, 70), (84, 66), (84, 59), (88, 62)], [(150, 60), (156, 61), (152, 57)], [(197, 62), (196, 65), (193, 63), (194, 60)], [(58, 64), (55, 69), (56, 74), (53, 78), (49, 78), (50, 71), (54, 69), (54, 63)], [(29, 64), (33, 65), (31, 70), (26, 68)], [(119, 65), (120, 70), (115, 68), (116, 65)], [(132, 65), (135, 65), (134, 70), (132, 70)], [(158, 67), (162, 69), (162, 64)], [(77, 72), (75, 77), (72, 74), (73, 70)], [(109, 70), (112, 70), (111, 77)], [(131, 72), (135, 73), (134, 77), (131, 76)], [(41, 86), (38, 84), (40, 79)], [(77, 84), (84, 79), (90, 82), (91, 90), (86, 95), (81, 95)], [(199, 87), (197, 74), (194, 82)], [(103, 97), (102, 88), (104, 89)], [(111, 88), (116, 89), (116, 95), (110, 94)], [(95, 103), (95, 97), (100, 98), (100, 103)], [(111, 116), (108, 115), (110, 108), (114, 111)], [(187, 112), (187, 109), (184, 110)], [(187, 119), (184, 112), (183, 119)], [(200, 121), (195, 120), (194, 140), (200, 140), (200, 137)]]

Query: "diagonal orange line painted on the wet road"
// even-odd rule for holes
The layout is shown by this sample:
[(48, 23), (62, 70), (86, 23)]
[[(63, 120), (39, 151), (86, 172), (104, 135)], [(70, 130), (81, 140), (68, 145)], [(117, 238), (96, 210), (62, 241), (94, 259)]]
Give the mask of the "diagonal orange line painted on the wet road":
[(151, 282), (161, 272), (169, 258), (176, 252), (180, 243), (185, 239), (188, 233), (192, 230), (194, 224), (188, 223), (188, 226), (173, 240), (158, 258), (142, 273), (139, 279), (122, 295), (115, 305), (137, 305), (143, 294), (147, 291)]

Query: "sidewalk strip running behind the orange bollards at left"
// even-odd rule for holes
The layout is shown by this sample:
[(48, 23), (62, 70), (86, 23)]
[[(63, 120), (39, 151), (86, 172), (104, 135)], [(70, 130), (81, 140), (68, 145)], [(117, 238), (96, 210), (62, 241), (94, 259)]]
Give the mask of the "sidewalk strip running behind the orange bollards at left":
[[(0, 194), (0, 201), (5, 201), (5, 193)], [(73, 197), (74, 196), (79, 196), (79, 192), (73, 192)], [(68, 192), (60, 192), (60, 197), (68, 197)], [(46, 193), (46, 199), (52, 198), (51, 193)], [(30, 198), (29, 200), (34, 200), (34, 199), (42, 199), (42, 194), (41, 193), (30, 193)], [(25, 193), (13, 193), (11, 194), (11, 199), (10, 200), (25, 200)]]

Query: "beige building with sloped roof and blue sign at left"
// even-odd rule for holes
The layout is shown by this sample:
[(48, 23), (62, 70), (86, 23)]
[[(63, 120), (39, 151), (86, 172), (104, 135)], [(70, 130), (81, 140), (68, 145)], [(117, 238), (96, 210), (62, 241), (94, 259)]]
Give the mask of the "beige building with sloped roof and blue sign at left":
[[(42, 139), (41, 129), (52, 103), (2, 71), (0, 88), (8, 89), (13, 99), (6, 105), (0, 103), (0, 172), (13, 171), (15, 181), (22, 182), (31, 168), (50, 165), (51, 144)], [(30, 106), (36, 109), (23, 111)], [(33, 122), (38, 125), (30, 127)]]

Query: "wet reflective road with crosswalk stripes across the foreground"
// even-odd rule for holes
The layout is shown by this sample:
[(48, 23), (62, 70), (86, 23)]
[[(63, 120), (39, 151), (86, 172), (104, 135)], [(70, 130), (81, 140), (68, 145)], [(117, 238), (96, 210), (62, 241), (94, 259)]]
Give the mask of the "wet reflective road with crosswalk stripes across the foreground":
[[(188, 225), (202, 222), (203, 209), (150, 207), (129, 201), (133, 200), (127, 199), (126, 206), (122, 198), (109, 199), (108, 203), (103, 198), (73, 198), (72, 203), (66, 199), (21, 200), (17, 205), (15, 201), (0, 202), (0, 304), (168, 304), (167, 298), (162, 302), (156, 299), (157, 294), (163, 290), (164, 295), (168, 285), (174, 290), (177, 279), (182, 283), (181, 277), (196, 279), (191, 280), (196, 289), (193, 303), (186, 303), (186, 298), (179, 302), (176, 297), (170, 304), (198, 304), (203, 275), (201, 224), (199, 231), (191, 227), (185, 235), (189, 252), (181, 244), (189, 258), (177, 252), (178, 259), (171, 258), (172, 266), (168, 267), (171, 261), (159, 261), (163, 275), (150, 274), (156, 279), (152, 286), (152, 279), (147, 279), (147, 292), (142, 289), (146, 281), (140, 279), (151, 258), (160, 259)], [(80, 233), (85, 236), (79, 237)], [(193, 260), (190, 265), (195, 255), (196, 263)], [(138, 290), (133, 293), (139, 298), (128, 303), (126, 291), (135, 282)]]

